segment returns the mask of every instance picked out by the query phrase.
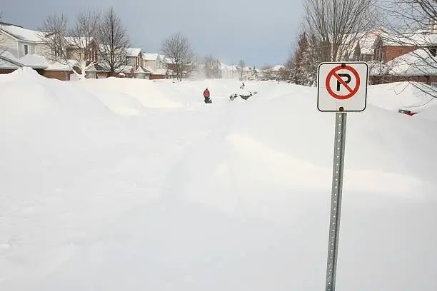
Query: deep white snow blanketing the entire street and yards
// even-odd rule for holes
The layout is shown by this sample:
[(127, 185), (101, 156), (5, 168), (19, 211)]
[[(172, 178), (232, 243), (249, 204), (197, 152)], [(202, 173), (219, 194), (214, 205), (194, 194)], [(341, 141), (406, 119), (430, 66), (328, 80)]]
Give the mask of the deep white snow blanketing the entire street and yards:
[[(0, 290), (323, 290), (334, 115), (245, 83), (1, 75)], [(436, 121), (388, 93), (348, 114), (337, 289), (434, 291)]]

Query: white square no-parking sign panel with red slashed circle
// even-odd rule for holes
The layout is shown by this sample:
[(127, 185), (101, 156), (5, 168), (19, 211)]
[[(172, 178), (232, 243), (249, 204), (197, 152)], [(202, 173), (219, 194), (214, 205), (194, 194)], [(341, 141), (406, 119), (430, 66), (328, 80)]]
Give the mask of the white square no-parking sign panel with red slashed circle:
[(321, 63), (318, 66), (318, 110), (323, 112), (364, 111), (367, 101), (367, 83), (367, 63)]

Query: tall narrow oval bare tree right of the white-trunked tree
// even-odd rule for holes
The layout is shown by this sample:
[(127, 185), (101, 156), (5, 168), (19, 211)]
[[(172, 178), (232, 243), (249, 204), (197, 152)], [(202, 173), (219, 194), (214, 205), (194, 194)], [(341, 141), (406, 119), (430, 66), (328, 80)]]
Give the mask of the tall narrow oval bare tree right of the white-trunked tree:
[(129, 36), (113, 8), (101, 21), (98, 39), (101, 64), (109, 71), (109, 76), (114, 76), (124, 68)]

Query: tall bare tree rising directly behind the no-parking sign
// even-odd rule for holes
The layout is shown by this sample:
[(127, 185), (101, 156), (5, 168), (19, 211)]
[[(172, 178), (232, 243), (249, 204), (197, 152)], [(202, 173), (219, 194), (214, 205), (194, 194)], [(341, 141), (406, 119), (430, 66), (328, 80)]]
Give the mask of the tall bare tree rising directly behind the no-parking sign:
[(321, 61), (348, 61), (363, 31), (373, 27), (376, 0), (306, 0), (305, 30), (318, 39)]

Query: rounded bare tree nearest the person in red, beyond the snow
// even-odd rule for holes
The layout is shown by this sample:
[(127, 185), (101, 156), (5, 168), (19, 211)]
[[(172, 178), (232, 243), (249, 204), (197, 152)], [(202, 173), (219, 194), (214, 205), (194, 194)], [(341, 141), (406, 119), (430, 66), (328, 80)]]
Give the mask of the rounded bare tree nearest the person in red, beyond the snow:
[(184, 34), (172, 34), (162, 44), (162, 52), (171, 59), (176, 77), (182, 81), (184, 71), (189, 71), (193, 63), (194, 53), (189, 39)]

